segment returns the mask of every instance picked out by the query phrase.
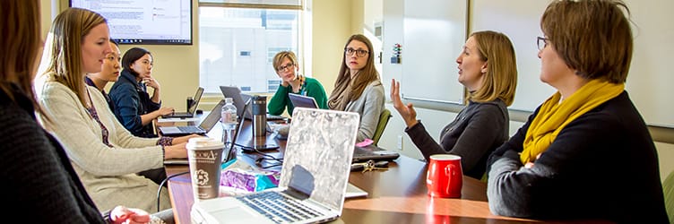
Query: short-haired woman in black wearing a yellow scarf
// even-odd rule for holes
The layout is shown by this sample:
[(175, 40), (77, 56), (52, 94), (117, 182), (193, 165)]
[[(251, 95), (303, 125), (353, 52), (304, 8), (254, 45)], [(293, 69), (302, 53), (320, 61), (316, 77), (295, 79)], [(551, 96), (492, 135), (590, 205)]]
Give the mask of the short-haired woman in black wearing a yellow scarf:
[(657, 152), (624, 90), (633, 49), (626, 14), (620, 0), (549, 4), (540, 80), (557, 92), (488, 159), (493, 213), (668, 222)]

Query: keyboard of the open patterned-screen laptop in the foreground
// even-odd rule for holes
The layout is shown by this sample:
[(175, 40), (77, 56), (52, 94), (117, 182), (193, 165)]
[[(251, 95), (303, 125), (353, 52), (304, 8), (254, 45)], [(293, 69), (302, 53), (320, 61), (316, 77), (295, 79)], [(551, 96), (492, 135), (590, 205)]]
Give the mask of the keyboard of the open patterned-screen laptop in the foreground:
[(307, 220), (322, 215), (279, 192), (247, 194), (237, 199), (276, 223)]

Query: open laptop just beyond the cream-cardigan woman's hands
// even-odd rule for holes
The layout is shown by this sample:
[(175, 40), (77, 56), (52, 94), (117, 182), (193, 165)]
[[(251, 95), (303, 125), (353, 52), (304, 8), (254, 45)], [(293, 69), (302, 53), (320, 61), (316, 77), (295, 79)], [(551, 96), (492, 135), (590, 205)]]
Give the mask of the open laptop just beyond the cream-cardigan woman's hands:
[(186, 125), (186, 126), (160, 126), (160, 134), (164, 136), (183, 136), (188, 134), (207, 134), (211, 131), (215, 124), (218, 124), (220, 121), (220, 110), (222, 106), (225, 105), (225, 100), (220, 99), (215, 107), (211, 110), (211, 113), (203, 118), (201, 124), (199, 125)]

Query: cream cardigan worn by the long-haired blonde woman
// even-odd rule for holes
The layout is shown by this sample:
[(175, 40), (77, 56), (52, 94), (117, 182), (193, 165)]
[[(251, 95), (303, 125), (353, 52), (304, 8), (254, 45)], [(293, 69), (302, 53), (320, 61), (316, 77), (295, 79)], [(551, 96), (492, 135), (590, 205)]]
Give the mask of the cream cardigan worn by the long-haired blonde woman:
[[(82, 81), (83, 82), (83, 81)], [(159, 185), (135, 173), (163, 166), (158, 138), (130, 134), (108, 108), (103, 95), (87, 86), (100, 122), (109, 132), (109, 148), (102, 141), (99, 123), (80, 99), (59, 82), (45, 82), (38, 92), (39, 104), (50, 121), (40, 117), (45, 128), (64, 146), (73, 168), (100, 211), (117, 205), (157, 211)], [(170, 208), (168, 191), (162, 191), (160, 209)]]

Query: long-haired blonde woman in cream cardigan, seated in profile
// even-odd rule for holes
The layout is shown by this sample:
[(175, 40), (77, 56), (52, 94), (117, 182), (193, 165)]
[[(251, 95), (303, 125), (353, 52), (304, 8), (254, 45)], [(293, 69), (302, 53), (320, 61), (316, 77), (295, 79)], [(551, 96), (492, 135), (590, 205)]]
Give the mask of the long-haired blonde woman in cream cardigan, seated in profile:
[[(36, 90), (49, 117), (40, 117), (43, 125), (63, 144), (99, 210), (121, 204), (157, 211), (159, 185), (135, 173), (161, 168), (164, 159), (186, 158), (185, 142), (192, 136), (134, 137), (119, 124), (100, 91), (84, 83), (86, 73), (100, 72), (111, 52), (108, 24), (98, 13), (65, 10), (56, 17), (51, 34), (45, 47), (46, 82)], [(170, 208), (167, 192), (160, 194), (160, 210)]]

